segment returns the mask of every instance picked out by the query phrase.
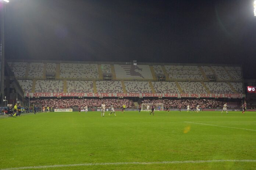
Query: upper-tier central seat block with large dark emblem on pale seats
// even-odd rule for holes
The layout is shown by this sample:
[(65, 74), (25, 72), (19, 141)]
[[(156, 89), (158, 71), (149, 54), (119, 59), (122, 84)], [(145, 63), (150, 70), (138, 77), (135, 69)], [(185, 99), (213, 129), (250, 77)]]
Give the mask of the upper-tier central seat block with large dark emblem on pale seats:
[(119, 65), (114, 64), (116, 77), (120, 80), (152, 80), (148, 65)]

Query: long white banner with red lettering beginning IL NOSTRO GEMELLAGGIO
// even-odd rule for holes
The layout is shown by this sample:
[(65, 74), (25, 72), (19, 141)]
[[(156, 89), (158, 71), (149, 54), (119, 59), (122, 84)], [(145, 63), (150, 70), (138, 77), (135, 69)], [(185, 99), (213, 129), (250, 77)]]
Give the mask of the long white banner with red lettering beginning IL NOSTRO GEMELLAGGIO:
[(245, 94), (216, 93), (25, 93), (26, 97), (194, 97), (194, 98), (243, 98)]

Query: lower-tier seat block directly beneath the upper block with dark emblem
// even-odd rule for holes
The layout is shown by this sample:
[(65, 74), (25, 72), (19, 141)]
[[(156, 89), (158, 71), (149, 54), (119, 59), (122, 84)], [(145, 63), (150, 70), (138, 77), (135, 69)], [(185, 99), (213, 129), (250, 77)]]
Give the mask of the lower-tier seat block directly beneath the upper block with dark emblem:
[(125, 88), (128, 93), (152, 93), (149, 82), (145, 81), (125, 81)]

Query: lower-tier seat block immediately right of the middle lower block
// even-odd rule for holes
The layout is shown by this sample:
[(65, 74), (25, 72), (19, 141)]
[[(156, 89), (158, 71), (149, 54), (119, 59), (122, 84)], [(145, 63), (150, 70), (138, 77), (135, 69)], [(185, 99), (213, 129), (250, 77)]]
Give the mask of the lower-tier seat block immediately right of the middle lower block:
[(157, 93), (179, 93), (179, 89), (175, 82), (156, 82), (152, 85)]

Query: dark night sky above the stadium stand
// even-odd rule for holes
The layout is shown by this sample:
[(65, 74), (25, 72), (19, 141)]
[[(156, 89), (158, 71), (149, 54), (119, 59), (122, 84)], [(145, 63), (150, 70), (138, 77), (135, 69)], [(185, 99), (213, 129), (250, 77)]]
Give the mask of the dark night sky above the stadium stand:
[(253, 0), (10, 0), (6, 58), (242, 64), (256, 78)]

